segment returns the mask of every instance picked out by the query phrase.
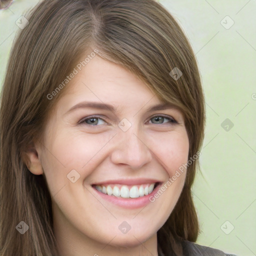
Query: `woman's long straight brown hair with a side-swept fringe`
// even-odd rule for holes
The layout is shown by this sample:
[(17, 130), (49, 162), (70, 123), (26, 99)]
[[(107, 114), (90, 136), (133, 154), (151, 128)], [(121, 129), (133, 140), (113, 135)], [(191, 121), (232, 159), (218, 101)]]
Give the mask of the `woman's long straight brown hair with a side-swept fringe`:
[[(44, 0), (12, 46), (0, 106), (0, 255), (57, 255), (51, 197), (44, 175), (32, 174), (25, 152), (40, 138), (68, 86), (49, 99), (84, 51), (132, 71), (184, 114), (188, 158), (202, 144), (204, 99), (191, 46), (171, 14), (154, 0)], [(175, 79), (169, 73), (178, 68)], [(177, 69), (176, 69), (177, 70)], [(173, 73), (171, 73), (173, 74)], [(52, 95), (52, 94), (51, 94)], [(187, 167), (180, 197), (157, 231), (158, 252), (178, 255), (199, 227), (191, 197), (198, 159)], [(24, 221), (29, 229), (15, 227)]]

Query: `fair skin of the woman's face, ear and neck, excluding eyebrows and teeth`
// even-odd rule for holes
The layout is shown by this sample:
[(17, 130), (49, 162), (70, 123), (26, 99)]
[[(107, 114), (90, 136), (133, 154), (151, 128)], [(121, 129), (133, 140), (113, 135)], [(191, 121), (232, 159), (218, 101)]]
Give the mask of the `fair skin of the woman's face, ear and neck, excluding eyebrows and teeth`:
[[(28, 153), (30, 171), (44, 173), (47, 180), (59, 255), (158, 255), (156, 232), (177, 202), (185, 171), (153, 202), (148, 196), (187, 162), (182, 113), (173, 107), (148, 111), (162, 101), (134, 74), (99, 56), (66, 86), (43, 141), (35, 141)], [(68, 111), (83, 101), (110, 104), (116, 112)], [(73, 169), (71, 179), (80, 177), (71, 182), (67, 176)], [(151, 183), (157, 188), (136, 198), (108, 195), (94, 186), (146, 190)]]

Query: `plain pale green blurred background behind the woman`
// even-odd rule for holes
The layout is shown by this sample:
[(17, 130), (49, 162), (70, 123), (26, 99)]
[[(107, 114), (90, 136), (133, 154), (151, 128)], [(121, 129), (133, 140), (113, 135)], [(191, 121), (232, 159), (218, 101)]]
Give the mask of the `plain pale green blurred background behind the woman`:
[[(0, 85), (16, 20), (38, 0), (0, 10)], [(256, 255), (256, 1), (159, 0), (179, 22), (197, 58), (206, 130), (193, 198), (197, 243)]]

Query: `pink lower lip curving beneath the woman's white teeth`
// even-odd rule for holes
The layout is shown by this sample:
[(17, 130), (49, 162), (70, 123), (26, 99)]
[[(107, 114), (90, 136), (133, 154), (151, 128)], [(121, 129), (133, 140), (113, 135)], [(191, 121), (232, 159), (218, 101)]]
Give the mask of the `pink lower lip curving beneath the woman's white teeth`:
[(108, 195), (99, 192), (95, 187), (92, 187), (98, 195), (100, 195), (103, 199), (116, 204), (118, 206), (121, 206), (123, 208), (128, 208), (128, 209), (136, 209), (143, 207), (147, 205), (150, 200), (149, 197), (154, 196), (155, 193), (157, 193), (159, 187), (161, 184), (158, 184), (153, 191), (150, 194), (144, 195), (144, 196), (139, 196), (137, 198), (122, 198), (122, 197), (116, 197), (113, 195)]

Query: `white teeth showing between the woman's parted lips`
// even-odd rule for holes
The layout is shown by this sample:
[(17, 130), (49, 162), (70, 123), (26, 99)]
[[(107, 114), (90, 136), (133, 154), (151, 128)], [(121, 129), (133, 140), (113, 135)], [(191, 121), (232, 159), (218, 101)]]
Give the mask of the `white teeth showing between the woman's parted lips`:
[(99, 192), (121, 198), (138, 198), (150, 194), (160, 182), (139, 184), (139, 185), (123, 185), (123, 184), (107, 184), (92, 185)]

